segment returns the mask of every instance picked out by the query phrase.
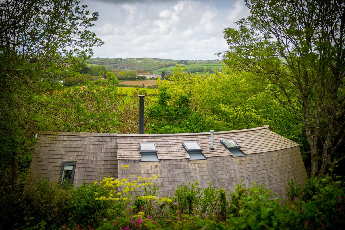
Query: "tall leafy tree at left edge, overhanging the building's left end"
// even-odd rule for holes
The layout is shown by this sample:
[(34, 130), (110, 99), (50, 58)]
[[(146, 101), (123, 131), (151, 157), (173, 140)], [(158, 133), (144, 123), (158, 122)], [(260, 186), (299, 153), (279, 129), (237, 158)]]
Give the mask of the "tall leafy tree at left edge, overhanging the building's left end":
[(80, 75), (78, 66), (103, 42), (87, 30), (98, 13), (76, 0), (3, 0), (0, 2), (1, 168), (33, 149), (38, 124), (50, 116), (45, 94), (56, 92), (60, 78)]

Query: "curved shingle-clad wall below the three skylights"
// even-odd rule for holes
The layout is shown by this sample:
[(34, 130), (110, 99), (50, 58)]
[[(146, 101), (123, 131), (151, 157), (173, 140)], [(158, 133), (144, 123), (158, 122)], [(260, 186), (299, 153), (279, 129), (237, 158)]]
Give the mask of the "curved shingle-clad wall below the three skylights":
[[(217, 151), (217, 149), (215, 150)], [(129, 165), (123, 169), (121, 165)], [(161, 159), (160, 161), (119, 160), (119, 179), (130, 175), (153, 177), (161, 175), (158, 182), (161, 196), (172, 195), (176, 185), (188, 185), (188, 181), (198, 181), (204, 189), (209, 182), (217, 189), (234, 191), (242, 180), (244, 187), (252, 186), (253, 181), (263, 183), (279, 198), (286, 198), (284, 185), (294, 177), (296, 183), (303, 183), (307, 178), (302, 156), (298, 146), (249, 154), (246, 157), (218, 156), (206, 160)]]

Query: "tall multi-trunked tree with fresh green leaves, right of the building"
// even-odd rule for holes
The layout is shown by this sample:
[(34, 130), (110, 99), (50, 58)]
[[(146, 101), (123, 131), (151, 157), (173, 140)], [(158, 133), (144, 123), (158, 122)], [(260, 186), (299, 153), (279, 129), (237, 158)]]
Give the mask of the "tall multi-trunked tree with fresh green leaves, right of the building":
[[(246, 0), (251, 15), (226, 28), (225, 63), (254, 73), (302, 122), (312, 174), (325, 174), (345, 135), (343, 0)], [(319, 169), (318, 148), (321, 147)]]

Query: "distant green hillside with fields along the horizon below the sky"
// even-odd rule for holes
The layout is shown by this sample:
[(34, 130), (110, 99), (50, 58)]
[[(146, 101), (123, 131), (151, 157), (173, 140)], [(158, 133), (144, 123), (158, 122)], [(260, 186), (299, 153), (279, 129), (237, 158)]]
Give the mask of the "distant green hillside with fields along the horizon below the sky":
[[(170, 71), (172, 68), (175, 67), (177, 62), (179, 60), (171, 60), (171, 59), (160, 59), (160, 58), (149, 58), (149, 57), (142, 57), (142, 58), (100, 58), (100, 57), (94, 57), (88, 60), (89, 66), (91, 65), (105, 65), (109, 69), (112, 70), (143, 70), (143, 71), (164, 71), (167, 69)], [(187, 71), (189, 71), (191, 66), (194, 66), (198, 64), (198, 66), (209, 66), (213, 67), (213, 70), (215, 67), (217, 69), (220, 69), (222, 67), (221, 60), (185, 60), (188, 62), (187, 65), (181, 65), (186, 66)], [(205, 68), (207, 69), (207, 68)], [(192, 67), (193, 70), (193, 67)]]

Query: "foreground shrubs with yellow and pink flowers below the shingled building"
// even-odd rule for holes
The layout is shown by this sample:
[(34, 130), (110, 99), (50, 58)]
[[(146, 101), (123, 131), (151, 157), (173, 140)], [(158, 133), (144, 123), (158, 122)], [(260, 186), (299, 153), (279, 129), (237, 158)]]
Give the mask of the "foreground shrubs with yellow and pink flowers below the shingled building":
[[(126, 166), (123, 166), (126, 167)], [(233, 191), (210, 183), (177, 185), (159, 196), (154, 179), (105, 178), (76, 189), (38, 181), (22, 192), (2, 191), (1, 229), (343, 229), (345, 191), (337, 177), (293, 179), (288, 199), (273, 198), (264, 185)]]

